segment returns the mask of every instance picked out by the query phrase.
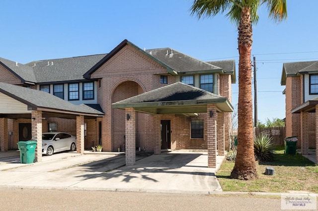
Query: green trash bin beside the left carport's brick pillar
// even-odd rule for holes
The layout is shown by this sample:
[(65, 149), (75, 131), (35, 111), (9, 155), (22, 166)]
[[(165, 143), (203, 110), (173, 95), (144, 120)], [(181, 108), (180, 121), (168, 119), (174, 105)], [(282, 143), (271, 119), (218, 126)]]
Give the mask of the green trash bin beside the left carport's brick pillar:
[(35, 158), (36, 141), (19, 141), (18, 149), (20, 150), (21, 163), (36, 162)]

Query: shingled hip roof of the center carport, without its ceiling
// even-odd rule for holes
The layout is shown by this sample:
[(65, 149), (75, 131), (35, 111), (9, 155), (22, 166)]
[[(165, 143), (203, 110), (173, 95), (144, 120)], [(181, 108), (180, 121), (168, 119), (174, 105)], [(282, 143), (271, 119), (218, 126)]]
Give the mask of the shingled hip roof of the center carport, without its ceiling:
[(112, 104), (112, 106), (117, 108), (154, 106), (191, 107), (207, 104), (220, 104), (222, 111), (233, 111), (233, 107), (227, 98), (181, 82), (176, 82), (174, 84), (116, 102)]

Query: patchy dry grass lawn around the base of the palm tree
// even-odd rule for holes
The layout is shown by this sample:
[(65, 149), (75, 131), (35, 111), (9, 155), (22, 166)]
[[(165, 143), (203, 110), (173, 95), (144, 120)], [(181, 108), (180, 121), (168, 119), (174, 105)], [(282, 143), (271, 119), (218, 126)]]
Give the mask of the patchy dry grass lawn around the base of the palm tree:
[[(300, 154), (285, 155), (283, 147), (275, 150), (274, 161), (256, 161), (258, 178), (231, 179), (234, 161), (225, 160), (217, 172), (223, 191), (239, 192), (310, 192), (318, 193), (318, 165)], [(273, 167), (274, 175), (265, 175), (265, 168)]]

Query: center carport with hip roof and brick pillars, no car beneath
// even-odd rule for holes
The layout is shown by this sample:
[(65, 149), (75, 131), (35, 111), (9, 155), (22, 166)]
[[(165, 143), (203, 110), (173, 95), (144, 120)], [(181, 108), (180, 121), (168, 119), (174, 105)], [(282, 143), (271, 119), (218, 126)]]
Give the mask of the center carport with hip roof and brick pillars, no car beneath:
[[(112, 104), (113, 108), (125, 109), (126, 165), (136, 162), (136, 112), (154, 115), (154, 154), (160, 150), (160, 119), (165, 114), (194, 116), (206, 113), (208, 167), (216, 167), (217, 146), (224, 153), (224, 115), (232, 112), (233, 106), (225, 97), (202, 89), (176, 82), (159, 89), (143, 93)], [(217, 126), (217, 120), (223, 118), (223, 125)], [(151, 123), (150, 123), (151, 124)], [(217, 137), (223, 137), (217, 140)], [(218, 142), (217, 142), (218, 141)]]

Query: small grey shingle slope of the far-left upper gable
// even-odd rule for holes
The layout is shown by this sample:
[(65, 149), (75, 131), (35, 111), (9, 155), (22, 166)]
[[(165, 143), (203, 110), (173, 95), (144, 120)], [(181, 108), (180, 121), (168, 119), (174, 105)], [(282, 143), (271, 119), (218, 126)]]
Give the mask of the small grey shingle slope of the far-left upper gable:
[(20, 78), (23, 82), (36, 82), (32, 67), (25, 64), (16, 63), (14, 61), (10, 61), (1, 57), (0, 63), (8, 68), (10, 72), (12, 72), (16, 77)]

